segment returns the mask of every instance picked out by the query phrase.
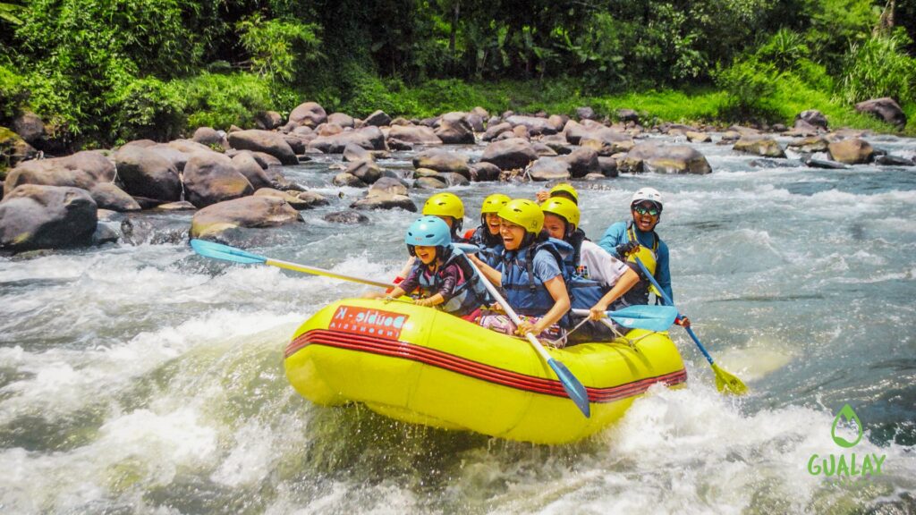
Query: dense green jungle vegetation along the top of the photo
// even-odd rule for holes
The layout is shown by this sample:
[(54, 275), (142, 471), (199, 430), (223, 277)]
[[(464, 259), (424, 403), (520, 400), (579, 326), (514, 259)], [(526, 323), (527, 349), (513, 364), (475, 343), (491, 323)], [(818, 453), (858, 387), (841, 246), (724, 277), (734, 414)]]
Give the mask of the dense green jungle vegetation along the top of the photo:
[(315, 100), (649, 122), (817, 108), (889, 131), (852, 104), (916, 115), (914, 39), (916, 0), (17, 0), (0, 3), (0, 125), (29, 110), (93, 147)]

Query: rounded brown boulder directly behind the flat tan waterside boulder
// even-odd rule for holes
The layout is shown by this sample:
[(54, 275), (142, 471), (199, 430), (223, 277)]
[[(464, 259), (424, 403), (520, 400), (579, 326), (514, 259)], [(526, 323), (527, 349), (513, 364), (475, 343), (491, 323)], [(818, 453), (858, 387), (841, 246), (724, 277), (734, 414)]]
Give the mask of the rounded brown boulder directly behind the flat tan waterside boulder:
[(184, 167), (184, 190), (188, 202), (197, 207), (234, 200), (255, 192), (251, 182), (233, 164), (216, 152), (198, 152)]

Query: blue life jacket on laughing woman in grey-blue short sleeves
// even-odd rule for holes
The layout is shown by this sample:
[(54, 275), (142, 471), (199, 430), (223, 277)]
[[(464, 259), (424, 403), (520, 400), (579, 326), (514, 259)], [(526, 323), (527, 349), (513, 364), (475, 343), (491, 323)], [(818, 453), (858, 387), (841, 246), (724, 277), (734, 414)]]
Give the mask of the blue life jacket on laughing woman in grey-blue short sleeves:
[(528, 247), (506, 251), (501, 257), (502, 287), (506, 300), (518, 314), (543, 316), (551, 311), (553, 297), (542, 280), (534, 274), (534, 257), (548, 252), (557, 261), (563, 280), (569, 277), (573, 247), (559, 239), (547, 238)]

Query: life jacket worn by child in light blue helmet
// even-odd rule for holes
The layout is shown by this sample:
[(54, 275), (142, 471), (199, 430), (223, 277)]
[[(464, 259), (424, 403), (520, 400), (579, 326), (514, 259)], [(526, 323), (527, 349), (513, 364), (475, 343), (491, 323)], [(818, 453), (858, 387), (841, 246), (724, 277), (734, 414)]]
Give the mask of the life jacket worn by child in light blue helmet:
[(486, 287), (481, 282), (481, 279), (477, 277), (477, 274), (474, 273), (474, 269), (468, 264), (467, 258), (464, 257), (461, 250), (454, 248), (451, 255), (435, 272), (431, 272), (430, 268), (420, 262), (420, 259), (417, 261), (418, 264), (414, 265), (414, 267), (420, 268), (420, 273), (417, 276), (419, 281), (417, 289), (420, 290), (421, 298), (431, 297), (439, 292), (444, 280), (441, 275), (444, 268), (453, 264), (458, 266), (458, 284), (455, 285), (453, 297), (439, 306), (443, 312), (448, 312), (455, 316), (464, 316), (489, 302)]

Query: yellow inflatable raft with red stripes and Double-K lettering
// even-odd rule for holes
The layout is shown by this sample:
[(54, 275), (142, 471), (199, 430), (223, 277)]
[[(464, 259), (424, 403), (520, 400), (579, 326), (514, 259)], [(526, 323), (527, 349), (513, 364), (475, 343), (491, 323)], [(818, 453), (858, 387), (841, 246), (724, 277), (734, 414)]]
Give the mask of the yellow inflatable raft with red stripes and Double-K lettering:
[(656, 383), (687, 380), (667, 333), (551, 349), (582, 381), (585, 418), (528, 341), (408, 302), (348, 299), (303, 323), (287, 378), (315, 403), (362, 402), (404, 422), (537, 444), (567, 444), (619, 419)]

